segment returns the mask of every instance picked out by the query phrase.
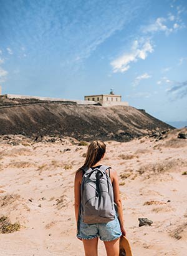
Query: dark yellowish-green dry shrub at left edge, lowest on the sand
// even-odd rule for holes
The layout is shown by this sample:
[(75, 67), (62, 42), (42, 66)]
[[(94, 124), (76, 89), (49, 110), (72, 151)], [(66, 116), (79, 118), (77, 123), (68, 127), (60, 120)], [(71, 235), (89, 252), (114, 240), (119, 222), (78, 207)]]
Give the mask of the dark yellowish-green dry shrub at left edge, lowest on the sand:
[(21, 225), (19, 224), (19, 222), (15, 222), (14, 224), (12, 224), (9, 221), (8, 217), (2, 216), (0, 218), (0, 232), (2, 234), (16, 232), (16, 231), (19, 231), (20, 229), (21, 229)]

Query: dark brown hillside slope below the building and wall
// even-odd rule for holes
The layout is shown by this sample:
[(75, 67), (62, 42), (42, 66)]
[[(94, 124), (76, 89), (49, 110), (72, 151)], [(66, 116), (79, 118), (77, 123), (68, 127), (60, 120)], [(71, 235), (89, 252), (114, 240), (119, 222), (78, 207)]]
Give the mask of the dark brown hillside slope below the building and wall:
[(73, 106), (54, 103), (0, 108), (0, 134), (62, 135), (76, 139), (127, 141), (173, 127), (126, 106)]

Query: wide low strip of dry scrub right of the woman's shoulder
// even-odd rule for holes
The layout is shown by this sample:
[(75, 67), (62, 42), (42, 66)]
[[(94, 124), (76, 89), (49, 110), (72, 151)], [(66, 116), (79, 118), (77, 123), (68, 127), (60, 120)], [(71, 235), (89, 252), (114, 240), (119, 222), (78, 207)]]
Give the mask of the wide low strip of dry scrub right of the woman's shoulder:
[(137, 170), (139, 174), (143, 174), (144, 172), (148, 173), (163, 173), (167, 172), (168, 170), (171, 170), (176, 167), (180, 166), (186, 166), (187, 162), (184, 162), (183, 160), (165, 160), (163, 162), (158, 162), (156, 164), (147, 164), (140, 167), (140, 169)]

